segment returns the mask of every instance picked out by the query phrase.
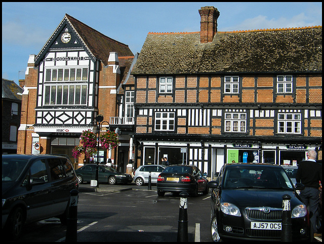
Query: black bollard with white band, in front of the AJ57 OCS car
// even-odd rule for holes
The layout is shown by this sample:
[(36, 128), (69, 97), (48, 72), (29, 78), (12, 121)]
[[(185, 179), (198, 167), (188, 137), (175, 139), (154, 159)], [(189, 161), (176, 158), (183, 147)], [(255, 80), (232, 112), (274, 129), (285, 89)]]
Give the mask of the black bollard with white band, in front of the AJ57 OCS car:
[(292, 242), (292, 216), (290, 211), (290, 199), (288, 194), (282, 196), (282, 222), (281, 222), (281, 241)]

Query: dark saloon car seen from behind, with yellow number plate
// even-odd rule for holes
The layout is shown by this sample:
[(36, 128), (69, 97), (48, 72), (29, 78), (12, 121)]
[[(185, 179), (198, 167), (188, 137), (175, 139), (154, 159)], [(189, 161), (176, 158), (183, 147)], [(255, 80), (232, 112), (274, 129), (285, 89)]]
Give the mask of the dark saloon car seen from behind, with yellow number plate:
[(207, 194), (209, 189), (205, 176), (193, 165), (168, 166), (157, 177), (157, 195), (164, 196), (165, 192), (180, 193), (182, 191), (186, 191), (192, 196), (197, 196), (198, 192)]

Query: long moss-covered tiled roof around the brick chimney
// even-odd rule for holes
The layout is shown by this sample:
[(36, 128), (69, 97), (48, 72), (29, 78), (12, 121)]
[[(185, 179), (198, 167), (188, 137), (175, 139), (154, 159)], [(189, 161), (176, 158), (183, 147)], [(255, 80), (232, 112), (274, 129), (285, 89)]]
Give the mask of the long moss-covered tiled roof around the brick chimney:
[(321, 72), (321, 26), (217, 32), (148, 33), (132, 74)]

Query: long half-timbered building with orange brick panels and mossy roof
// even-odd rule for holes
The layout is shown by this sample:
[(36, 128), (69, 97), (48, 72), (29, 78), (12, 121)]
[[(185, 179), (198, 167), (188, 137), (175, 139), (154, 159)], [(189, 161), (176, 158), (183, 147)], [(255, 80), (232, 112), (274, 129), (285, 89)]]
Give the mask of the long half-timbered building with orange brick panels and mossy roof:
[(198, 32), (148, 33), (133, 68), (135, 167), (321, 159), (321, 26), (221, 32), (198, 12)]

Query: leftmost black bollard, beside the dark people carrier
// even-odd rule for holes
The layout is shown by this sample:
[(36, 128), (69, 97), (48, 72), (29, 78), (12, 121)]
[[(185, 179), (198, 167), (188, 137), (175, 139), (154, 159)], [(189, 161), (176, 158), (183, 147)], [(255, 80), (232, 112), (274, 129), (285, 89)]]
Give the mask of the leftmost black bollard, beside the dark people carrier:
[(79, 192), (75, 189), (70, 191), (70, 205), (69, 205), (69, 214), (67, 217), (65, 242), (76, 242), (78, 193)]

